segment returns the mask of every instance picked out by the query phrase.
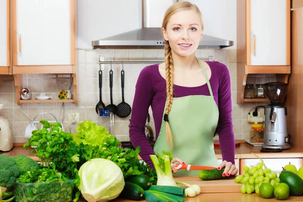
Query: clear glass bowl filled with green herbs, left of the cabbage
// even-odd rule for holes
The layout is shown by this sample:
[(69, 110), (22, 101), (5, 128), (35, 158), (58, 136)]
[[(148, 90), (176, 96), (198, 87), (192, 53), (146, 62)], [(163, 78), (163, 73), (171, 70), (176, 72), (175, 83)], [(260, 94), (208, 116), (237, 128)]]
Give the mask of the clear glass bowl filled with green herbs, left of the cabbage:
[(72, 192), (73, 180), (58, 172), (55, 164), (52, 168), (24, 172), (15, 185), (17, 201), (70, 201)]

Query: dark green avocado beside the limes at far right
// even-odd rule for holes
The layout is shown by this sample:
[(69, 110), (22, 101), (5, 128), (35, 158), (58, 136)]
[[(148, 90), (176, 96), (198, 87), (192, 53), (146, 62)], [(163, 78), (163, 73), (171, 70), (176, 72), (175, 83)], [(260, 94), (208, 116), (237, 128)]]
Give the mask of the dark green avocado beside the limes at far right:
[(283, 170), (280, 175), (280, 182), (286, 183), (289, 186), (289, 194), (300, 196), (303, 194), (303, 180), (294, 172)]

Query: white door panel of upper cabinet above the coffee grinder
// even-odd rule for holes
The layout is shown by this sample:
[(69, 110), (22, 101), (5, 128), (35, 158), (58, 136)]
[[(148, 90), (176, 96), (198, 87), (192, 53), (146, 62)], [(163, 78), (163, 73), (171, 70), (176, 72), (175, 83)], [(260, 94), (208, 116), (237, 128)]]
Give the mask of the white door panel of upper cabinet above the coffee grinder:
[(251, 0), (250, 26), (250, 65), (286, 65), (286, 0)]

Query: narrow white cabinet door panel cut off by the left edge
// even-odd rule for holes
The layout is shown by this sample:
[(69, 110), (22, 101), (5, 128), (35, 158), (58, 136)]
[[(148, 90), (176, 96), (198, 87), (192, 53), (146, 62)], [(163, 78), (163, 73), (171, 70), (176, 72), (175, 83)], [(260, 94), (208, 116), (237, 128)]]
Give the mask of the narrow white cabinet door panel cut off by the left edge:
[(8, 10), (7, 0), (0, 0), (0, 66), (8, 66)]

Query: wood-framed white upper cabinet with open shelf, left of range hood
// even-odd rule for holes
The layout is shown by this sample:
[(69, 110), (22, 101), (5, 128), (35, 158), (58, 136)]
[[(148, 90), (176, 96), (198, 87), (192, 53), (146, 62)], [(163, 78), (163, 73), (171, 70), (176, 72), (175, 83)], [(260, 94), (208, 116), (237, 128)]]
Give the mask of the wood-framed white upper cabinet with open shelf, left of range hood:
[[(12, 61), (17, 104), (77, 104), (75, 0), (11, 2)], [(23, 74), (72, 74), (74, 99), (21, 100)]]

